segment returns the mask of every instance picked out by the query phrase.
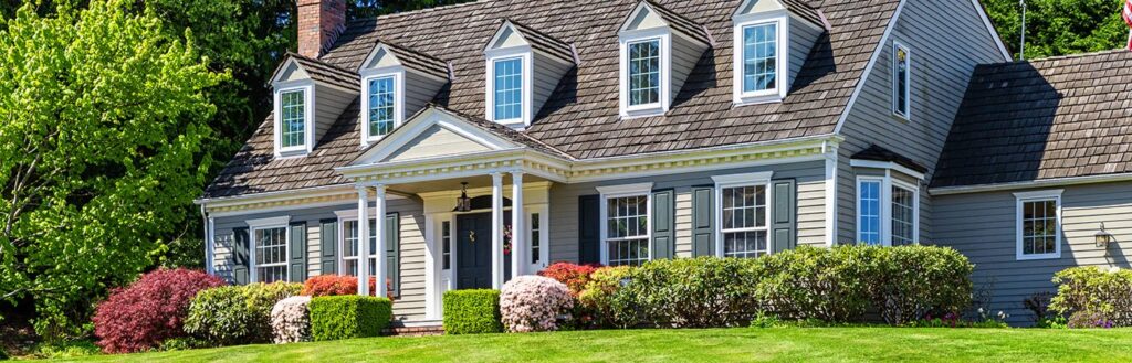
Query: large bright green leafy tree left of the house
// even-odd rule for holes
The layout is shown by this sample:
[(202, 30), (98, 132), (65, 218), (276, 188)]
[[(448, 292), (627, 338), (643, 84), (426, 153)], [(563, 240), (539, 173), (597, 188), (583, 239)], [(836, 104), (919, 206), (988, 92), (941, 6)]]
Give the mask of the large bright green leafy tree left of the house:
[(226, 76), (134, 7), (25, 5), (0, 29), (0, 299), (46, 338), (151, 266), (205, 181), (205, 90)]

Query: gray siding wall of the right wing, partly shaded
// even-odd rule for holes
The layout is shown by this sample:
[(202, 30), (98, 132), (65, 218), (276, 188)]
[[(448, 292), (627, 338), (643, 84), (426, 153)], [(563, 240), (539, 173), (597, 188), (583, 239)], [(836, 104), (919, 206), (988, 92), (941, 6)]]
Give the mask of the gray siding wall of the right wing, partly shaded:
[[(1022, 300), (1053, 291), (1050, 278), (1058, 270), (1074, 266), (1132, 267), (1132, 183), (1039, 190), (1048, 189), (1065, 190), (1062, 254), (1050, 260), (1017, 260), (1017, 191), (935, 197), (936, 243), (953, 247), (970, 258), (976, 265), (976, 287), (993, 287), (992, 311), (1005, 311), (1012, 323), (1031, 322), (1032, 314)], [(1094, 243), (1101, 222), (1117, 241), (1108, 253)]]

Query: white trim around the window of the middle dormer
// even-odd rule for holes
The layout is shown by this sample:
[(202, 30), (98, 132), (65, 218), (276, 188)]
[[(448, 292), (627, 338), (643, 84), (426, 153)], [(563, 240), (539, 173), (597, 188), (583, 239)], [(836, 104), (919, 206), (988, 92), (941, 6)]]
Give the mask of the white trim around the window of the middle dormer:
[[(524, 129), (524, 128), (531, 126), (531, 120), (534, 118), (534, 114), (533, 114), (533, 110), (534, 109), (532, 106), (532, 102), (533, 102), (533, 96), (532, 95), (533, 95), (533, 92), (534, 92), (534, 89), (533, 89), (533, 87), (534, 87), (534, 72), (533, 72), (533, 70), (534, 70), (534, 57), (531, 53), (531, 46), (530, 45), (520, 45), (520, 46), (509, 46), (509, 47), (501, 47), (501, 49), (492, 49), (492, 50), (484, 51), (483, 54), (487, 57), (486, 66), (484, 66), (486, 69), (487, 69), (487, 74), (483, 77), (483, 78), (486, 78), (484, 88), (483, 88), (483, 93), (484, 93), (484, 96), (486, 96), (486, 100), (484, 100), (486, 103), (484, 103), (483, 107), (486, 109), (484, 110), (484, 114), (488, 116), (487, 119), (490, 120), (490, 121), (494, 121), (496, 123), (499, 123), (499, 124), (503, 124), (503, 126), (506, 126), (506, 127), (511, 127), (511, 128), (516, 128), (516, 129)], [(522, 87), (523, 87), (523, 89), (521, 90), (521, 93), (523, 95), (523, 101), (522, 101), (523, 104), (521, 105), (522, 115), (520, 118), (517, 118), (517, 119), (496, 120), (496, 116), (495, 116), (495, 63), (497, 61), (512, 60), (512, 59), (521, 59), (522, 60), (522, 64), (523, 64), (523, 69), (522, 69), (522, 78), (523, 78), (523, 85), (522, 85)]]

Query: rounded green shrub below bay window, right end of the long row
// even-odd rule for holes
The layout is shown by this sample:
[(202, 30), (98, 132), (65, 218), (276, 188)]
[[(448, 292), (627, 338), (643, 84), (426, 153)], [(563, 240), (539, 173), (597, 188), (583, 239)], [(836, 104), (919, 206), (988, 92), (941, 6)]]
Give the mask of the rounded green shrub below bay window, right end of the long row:
[(975, 265), (952, 248), (902, 245), (880, 249), (873, 301), (891, 325), (959, 313), (971, 303)]

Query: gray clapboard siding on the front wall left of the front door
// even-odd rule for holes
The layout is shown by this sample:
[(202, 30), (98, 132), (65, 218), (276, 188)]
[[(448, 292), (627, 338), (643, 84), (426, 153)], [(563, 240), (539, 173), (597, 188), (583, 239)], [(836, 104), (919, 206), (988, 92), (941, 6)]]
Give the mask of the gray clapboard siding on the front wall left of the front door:
[[(337, 271), (319, 270), (319, 222), (337, 218), (335, 210), (353, 210), (358, 206), (345, 204), (332, 207), (295, 209), (291, 211), (251, 214), (216, 218), (215, 266), (216, 275), (232, 282), (232, 230), (247, 227), (248, 219), (290, 216), (291, 222), (307, 222), (307, 251), (309, 253), (307, 270), (310, 276), (336, 274)], [(394, 317), (398, 320), (424, 319), (424, 216), (423, 206), (409, 199), (391, 199), (388, 213), (401, 216), (401, 296), (393, 304)], [(341, 237), (341, 236), (340, 236)]]

